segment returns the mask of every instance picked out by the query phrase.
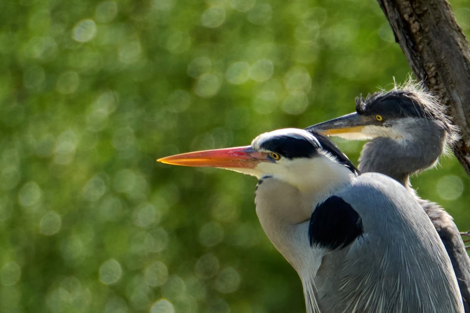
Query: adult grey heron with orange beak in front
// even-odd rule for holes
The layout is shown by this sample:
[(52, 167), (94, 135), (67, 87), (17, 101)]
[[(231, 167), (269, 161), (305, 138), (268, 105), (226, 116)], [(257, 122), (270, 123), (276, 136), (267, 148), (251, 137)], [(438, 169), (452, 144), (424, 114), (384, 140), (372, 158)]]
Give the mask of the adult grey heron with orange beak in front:
[(327, 136), (279, 129), (249, 146), (157, 161), (258, 178), (259, 222), (299, 274), (309, 313), (463, 312), (446, 250), (419, 203), (390, 177), (359, 174)]

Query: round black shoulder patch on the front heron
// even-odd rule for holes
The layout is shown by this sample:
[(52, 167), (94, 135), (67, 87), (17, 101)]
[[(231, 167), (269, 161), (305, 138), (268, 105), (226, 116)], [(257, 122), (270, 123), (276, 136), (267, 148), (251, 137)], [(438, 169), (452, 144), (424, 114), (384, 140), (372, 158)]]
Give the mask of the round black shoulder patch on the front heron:
[(310, 217), (310, 245), (342, 249), (363, 233), (362, 218), (349, 203), (336, 195), (318, 204)]

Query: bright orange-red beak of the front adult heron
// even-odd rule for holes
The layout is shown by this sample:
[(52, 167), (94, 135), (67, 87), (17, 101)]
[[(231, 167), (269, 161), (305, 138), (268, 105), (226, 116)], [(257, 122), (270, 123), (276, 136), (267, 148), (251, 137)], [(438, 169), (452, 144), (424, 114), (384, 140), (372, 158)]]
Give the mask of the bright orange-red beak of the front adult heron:
[(259, 162), (269, 160), (266, 153), (255, 151), (251, 146), (242, 146), (176, 154), (157, 161), (191, 167), (253, 169)]

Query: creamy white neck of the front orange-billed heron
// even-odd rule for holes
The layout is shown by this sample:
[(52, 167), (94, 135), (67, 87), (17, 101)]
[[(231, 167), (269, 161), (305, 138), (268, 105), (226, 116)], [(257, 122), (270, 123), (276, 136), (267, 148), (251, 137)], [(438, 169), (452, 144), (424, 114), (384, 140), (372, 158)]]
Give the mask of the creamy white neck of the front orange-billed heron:
[(311, 258), (321, 255), (321, 252), (316, 256), (312, 253), (308, 239), (313, 210), (330, 195), (348, 186), (354, 174), (326, 156), (314, 162), (298, 161), (297, 166), (292, 163), (284, 173), (262, 179), (255, 202), (259, 222), (269, 240), (300, 273), (305, 266), (315, 266)]

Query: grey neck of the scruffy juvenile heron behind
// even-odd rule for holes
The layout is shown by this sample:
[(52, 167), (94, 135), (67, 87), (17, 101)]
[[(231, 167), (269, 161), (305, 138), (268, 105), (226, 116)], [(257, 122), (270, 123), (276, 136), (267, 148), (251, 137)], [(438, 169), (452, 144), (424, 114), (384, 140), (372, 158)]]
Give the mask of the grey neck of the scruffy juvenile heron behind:
[(394, 126), (395, 137), (378, 137), (361, 151), (359, 170), (379, 172), (409, 188), (409, 177), (432, 167), (446, 144), (446, 131), (432, 120), (403, 122)]

